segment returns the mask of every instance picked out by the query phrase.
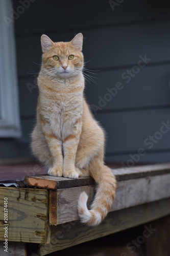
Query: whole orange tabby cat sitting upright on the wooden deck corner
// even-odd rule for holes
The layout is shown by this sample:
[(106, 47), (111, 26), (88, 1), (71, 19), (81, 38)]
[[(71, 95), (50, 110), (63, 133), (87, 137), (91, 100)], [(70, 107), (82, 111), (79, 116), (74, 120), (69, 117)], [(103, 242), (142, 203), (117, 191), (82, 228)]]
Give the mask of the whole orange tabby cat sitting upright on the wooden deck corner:
[(91, 176), (98, 184), (91, 209), (81, 193), (78, 213), (83, 223), (99, 224), (115, 198), (116, 181), (104, 164), (104, 131), (83, 97), (83, 35), (70, 42), (41, 36), (42, 66), (38, 76), (37, 123), (32, 151), (48, 167), (48, 175)]

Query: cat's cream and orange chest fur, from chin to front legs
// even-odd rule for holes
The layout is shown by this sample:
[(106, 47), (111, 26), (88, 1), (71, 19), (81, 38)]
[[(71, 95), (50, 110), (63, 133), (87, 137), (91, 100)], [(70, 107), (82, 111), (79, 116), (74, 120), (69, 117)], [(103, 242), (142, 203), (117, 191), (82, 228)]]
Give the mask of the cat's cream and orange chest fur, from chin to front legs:
[[(39, 84), (43, 84), (39, 77)], [(64, 140), (77, 129), (77, 120), (83, 113), (84, 77), (53, 80), (39, 86), (39, 104), (41, 115), (48, 120), (49, 130)]]

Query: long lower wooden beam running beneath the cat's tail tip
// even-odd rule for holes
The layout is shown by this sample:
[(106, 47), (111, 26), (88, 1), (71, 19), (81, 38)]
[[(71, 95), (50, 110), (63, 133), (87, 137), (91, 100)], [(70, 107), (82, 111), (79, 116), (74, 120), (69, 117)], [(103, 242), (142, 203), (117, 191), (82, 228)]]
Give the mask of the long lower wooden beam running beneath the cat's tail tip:
[(144, 224), (170, 213), (170, 199), (110, 212), (96, 227), (88, 227), (78, 221), (51, 227), (51, 242), (40, 246), (40, 255), (84, 243), (108, 234)]

